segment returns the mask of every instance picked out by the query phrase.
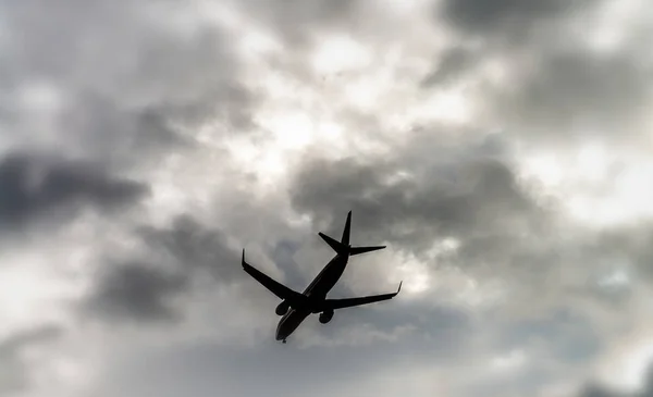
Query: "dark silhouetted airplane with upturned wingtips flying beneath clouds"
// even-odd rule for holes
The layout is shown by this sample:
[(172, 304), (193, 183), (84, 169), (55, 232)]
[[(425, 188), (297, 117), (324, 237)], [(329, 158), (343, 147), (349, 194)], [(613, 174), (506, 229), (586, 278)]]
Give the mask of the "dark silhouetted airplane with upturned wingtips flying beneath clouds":
[(334, 310), (392, 299), (402, 290), (403, 282), (399, 282), (399, 287), (397, 288), (396, 293), (345, 299), (326, 298), (326, 294), (331, 290), (331, 288), (333, 288), (335, 283), (337, 283), (345, 271), (349, 257), (375, 251), (386, 247), (352, 247), (349, 244), (350, 226), (352, 211), (349, 211), (347, 214), (347, 221), (345, 222), (345, 228), (340, 241), (326, 236), (322, 232), (318, 233), (318, 235), (322, 237), (326, 244), (329, 244), (336, 255), (331, 259), (331, 261), (329, 261), (320, 274), (316, 276), (316, 278), (301, 294), (274, 281), (267, 274), (247, 263), (245, 261), (245, 249), (243, 249), (242, 265), (245, 272), (262, 284), (278, 298), (282, 299), (281, 303), (279, 303), (275, 309), (276, 315), (282, 315), (276, 326), (276, 340), (282, 340), (282, 343), (285, 344), (286, 338), (291, 336), (291, 334), (295, 332), (301, 322), (304, 322), (304, 320), (306, 320), (306, 318), (308, 318), (310, 314), (320, 313), (320, 323), (326, 324), (333, 318)]

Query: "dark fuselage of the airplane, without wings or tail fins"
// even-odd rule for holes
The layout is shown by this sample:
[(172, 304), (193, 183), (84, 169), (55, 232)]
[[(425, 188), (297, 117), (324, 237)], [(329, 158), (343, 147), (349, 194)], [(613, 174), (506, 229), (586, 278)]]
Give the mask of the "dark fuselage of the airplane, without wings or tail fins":
[(315, 312), (315, 308), (320, 306), (320, 302), (326, 299), (326, 294), (333, 288), (335, 283), (340, 280), (347, 266), (349, 260), (348, 255), (336, 255), (329, 261), (329, 263), (322, 269), (320, 274), (313, 278), (313, 281), (306, 287), (304, 296), (306, 296), (311, 302), (311, 308), (289, 308), (279, 321), (276, 326), (276, 340), (284, 340), (287, 338), (307, 317)]

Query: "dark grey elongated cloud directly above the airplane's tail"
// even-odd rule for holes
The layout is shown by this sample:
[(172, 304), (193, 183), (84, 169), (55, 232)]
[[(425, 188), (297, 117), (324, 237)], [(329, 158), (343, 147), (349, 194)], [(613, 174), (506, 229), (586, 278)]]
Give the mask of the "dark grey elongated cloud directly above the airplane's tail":
[[(385, 181), (404, 170), (412, 175)], [(392, 161), (317, 160), (301, 170), (292, 191), (298, 211), (316, 215), (319, 222), (331, 220), (332, 234), (342, 227), (336, 214), (352, 210), (357, 234), (412, 247), (510, 228), (516, 220), (528, 220), (539, 211), (509, 165), (489, 158), (435, 160), (422, 169)]]

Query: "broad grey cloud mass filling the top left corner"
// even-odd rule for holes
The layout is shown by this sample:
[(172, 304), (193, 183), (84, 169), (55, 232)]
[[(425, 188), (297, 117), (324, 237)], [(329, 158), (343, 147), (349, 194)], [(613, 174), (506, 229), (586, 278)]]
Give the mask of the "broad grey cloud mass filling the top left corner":
[(8, 144), (126, 168), (192, 148), (208, 120), (221, 126), (215, 134), (251, 127), (254, 97), (238, 80), (231, 42), (198, 11), (170, 1), (48, 4), (2, 4)]

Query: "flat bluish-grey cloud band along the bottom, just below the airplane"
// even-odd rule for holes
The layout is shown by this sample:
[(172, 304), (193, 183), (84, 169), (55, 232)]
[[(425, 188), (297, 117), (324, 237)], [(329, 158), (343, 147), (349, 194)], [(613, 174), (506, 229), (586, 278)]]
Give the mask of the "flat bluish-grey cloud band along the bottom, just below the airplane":
[[(426, 307), (407, 308), (399, 300), (393, 303), (394, 308), (384, 311), (383, 315), (374, 313), (374, 310), (343, 310), (332, 320), (334, 324), (330, 324), (335, 326), (317, 324), (315, 317), (309, 318), (298, 330), (299, 335), (312, 328), (332, 342), (326, 343), (326, 347), (311, 344), (297, 348), (303, 338), (297, 336), (296, 343), (284, 346), (283, 351), (264, 339), (257, 344), (256, 349), (193, 342), (165, 350), (145, 351), (139, 357), (128, 357), (120, 362), (116, 371), (106, 380), (106, 389), (113, 390), (118, 383), (131, 385), (123, 393), (124, 396), (156, 392), (172, 397), (189, 390), (196, 396), (209, 396), (214, 393), (214, 385), (220, 384), (224, 393), (235, 395), (264, 390), (274, 395), (301, 396), (312, 390), (322, 396), (337, 389), (334, 382), (346, 387), (378, 371), (394, 370), (399, 373), (402, 368), (423, 363), (446, 365), (469, 352), (471, 343), (468, 333), (472, 332), (473, 324), (465, 313), (444, 307), (434, 310)], [(423, 309), (421, 314), (424, 321), (421, 326), (433, 327), (428, 337), (417, 332), (407, 334), (408, 337), (381, 338), (381, 343), (361, 343), (355, 347), (350, 343), (336, 343), (357, 336), (362, 339), (381, 328), (391, 330), (396, 325), (415, 323), (418, 309)], [(357, 330), (361, 330), (358, 335)], [(342, 335), (343, 331), (345, 335)], [(309, 362), (311, 367), (307, 365)], [(243, 382), (239, 377), (243, 372), (257, 382)], [(171, 379), (163, 376), (165, 373), (180, 376)], [(278, 377), (287, 373), (297, 375), (297, 382), (276, 382)], [(318, 375), (325, 373), (329, 376)], [(165, 386), (158, 387), (161, 382), (152, 382), (155, 379), (161, 380)]]

